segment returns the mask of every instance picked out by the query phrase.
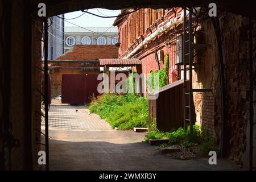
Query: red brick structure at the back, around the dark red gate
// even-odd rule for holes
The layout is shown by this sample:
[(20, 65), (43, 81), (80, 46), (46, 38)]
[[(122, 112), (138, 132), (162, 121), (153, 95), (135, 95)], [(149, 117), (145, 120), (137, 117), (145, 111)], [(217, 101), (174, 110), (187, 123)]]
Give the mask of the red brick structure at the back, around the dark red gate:
[(51, 73), (51, 96), (61, 95), (61, 79), (64, 74), (98, 75), (98, 59), (117, 58), (117, 47), (113, 45), (76, 45), (68, 52), (49, 61)]

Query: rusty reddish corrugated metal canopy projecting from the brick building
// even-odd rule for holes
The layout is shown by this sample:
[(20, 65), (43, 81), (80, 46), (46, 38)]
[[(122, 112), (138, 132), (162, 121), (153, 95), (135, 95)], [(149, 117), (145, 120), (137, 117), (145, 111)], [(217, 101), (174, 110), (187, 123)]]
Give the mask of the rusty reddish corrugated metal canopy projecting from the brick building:
[(135, 65), (141, 65), (141, 60), (131, 59), (99, 59), (100, 66), (112, 66), (112, 67), (131, 67)]

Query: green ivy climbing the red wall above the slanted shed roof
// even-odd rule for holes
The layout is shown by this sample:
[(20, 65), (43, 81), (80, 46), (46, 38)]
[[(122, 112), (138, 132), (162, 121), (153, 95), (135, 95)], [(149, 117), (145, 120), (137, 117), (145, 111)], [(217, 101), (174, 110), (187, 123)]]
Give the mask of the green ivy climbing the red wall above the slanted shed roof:
[[(153, 90), (162, 88), (167, 85), (168, 80), (168, 68), (169, 68), (169, 55), (164, 57), (164, 61), (166, 63), (163, 69), (151, 72), (148, 74), (147, 86), (148, 91), (152, 92)], [(159, 77), (159, 81), (157, 81), (157, 76)], [(156, 79), (156, 80), (155, 80)]]

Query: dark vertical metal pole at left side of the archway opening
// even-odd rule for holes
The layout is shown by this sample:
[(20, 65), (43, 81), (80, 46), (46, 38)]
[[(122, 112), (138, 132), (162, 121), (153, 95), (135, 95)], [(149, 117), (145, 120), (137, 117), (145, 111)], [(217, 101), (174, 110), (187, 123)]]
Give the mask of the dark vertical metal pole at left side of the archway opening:
[(44, 18), (44, 121), (46, 130), (46, 171), (49, 171), (49, 133), (48, 133), (48, 19)]

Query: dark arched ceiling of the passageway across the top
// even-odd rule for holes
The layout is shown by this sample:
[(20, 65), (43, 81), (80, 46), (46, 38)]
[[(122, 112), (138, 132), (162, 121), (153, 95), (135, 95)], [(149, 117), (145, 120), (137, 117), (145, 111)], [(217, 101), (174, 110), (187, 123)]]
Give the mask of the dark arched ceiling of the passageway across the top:
[(256, 18), (254, 0), (246, 2), (241, 0), (33, 0), (31, 1), (31, 7), (34, 14), (37, 12), (37, 6), (40, 2), (46, 3), (47, 16), (92, 8), (118, 10), (137, 7), (150, 7), (152, 9), (182, 6), (208, 7), (209, 3), (214, 2), (219, 10)]

